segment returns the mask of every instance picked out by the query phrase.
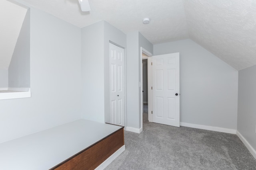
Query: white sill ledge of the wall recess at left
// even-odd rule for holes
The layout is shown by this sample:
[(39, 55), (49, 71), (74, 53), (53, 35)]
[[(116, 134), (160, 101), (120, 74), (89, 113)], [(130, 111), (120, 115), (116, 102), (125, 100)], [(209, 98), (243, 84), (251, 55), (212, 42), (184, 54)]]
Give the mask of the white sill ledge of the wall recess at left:
[(30, 97), (30, 88), (0, 88), (0, 100)]

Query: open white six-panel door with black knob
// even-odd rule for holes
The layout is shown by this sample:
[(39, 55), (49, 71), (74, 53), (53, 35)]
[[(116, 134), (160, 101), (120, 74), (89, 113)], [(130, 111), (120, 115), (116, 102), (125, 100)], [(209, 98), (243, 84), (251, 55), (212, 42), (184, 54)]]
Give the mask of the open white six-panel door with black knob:
[(180, 127), (180, 54), (152, 57), (152, 121)]

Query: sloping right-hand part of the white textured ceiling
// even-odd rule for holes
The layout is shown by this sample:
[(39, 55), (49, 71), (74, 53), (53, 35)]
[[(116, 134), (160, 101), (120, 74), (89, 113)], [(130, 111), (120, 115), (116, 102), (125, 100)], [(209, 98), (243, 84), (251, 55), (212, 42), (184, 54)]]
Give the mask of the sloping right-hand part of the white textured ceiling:
[(256, 64), (256, 0), (184, 0), (190, 39), (237, 70)]

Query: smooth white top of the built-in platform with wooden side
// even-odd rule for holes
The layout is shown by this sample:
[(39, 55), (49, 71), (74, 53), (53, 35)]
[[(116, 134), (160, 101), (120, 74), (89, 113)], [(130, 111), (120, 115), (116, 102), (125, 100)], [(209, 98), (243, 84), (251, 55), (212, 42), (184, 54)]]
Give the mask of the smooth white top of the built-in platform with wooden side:
[(80, 119), (0, 143), (0, 170), (48, 170), (121, 128)]

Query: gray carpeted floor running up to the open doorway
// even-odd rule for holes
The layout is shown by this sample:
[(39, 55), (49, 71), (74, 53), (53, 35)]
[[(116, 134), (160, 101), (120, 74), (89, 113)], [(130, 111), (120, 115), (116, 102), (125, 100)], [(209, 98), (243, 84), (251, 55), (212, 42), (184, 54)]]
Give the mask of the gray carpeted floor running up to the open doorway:
[(125, 131), (126, 150), (105, 170), (256, 170), (256, 160), (233, 134), (151, 123)]

